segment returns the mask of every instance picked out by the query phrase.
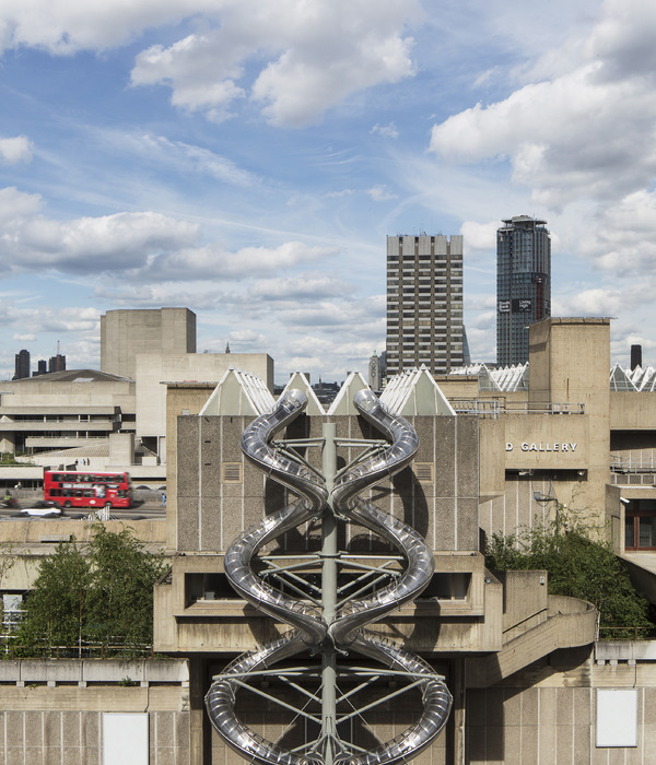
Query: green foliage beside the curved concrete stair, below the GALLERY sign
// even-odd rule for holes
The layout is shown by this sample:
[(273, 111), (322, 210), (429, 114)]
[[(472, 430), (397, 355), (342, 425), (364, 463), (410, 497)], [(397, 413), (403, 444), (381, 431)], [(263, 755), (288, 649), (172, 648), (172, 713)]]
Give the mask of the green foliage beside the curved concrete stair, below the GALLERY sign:
[[(559, 508), (558, 523), (519, 534), (493, 534), (485, 550), (491, 569), (546, 569), (550, 595), (593, 603), (600, 627), (653, 627), (649, 603), (631, 585), (629, 574), (598, 529)], [(617, 636), (617, 635), (616, 635)]]

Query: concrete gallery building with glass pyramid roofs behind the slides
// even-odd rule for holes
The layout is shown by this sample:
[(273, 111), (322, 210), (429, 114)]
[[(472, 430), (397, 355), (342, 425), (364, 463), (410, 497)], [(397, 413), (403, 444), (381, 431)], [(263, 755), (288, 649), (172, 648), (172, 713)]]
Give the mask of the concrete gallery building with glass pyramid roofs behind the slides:
[[(531, 327), (530, 338), (530, 385), (522, 367), (506, 375), (512, 391), (495, 387), (480, 369), (440, 377), (440, 388), (425, 370), (390, 381), (388, 401), (413, 423), (422, 446), (407, 473), (376, 490), (376, 504), (412, 519), (434, 551), (436, 575), (425, 597), (370, 628), (429, 659), (454, 694), (447, 728), (413, 762), (591, 764), (629, 757), (646, 765), (654, 732), (648, 720), (656, 710), (654, 644), (596, 642), (594, 610), (549, 597), (546, 572), (495, 575), (482, 562), (487, 534), (547, 521), (569, 505), (608, 528), (643, 584), (654, 581), (654, 563), (644, 561), (648, 553), (635, 555), (622, 540), (625, 525), (635, 523), (628, 520), (631, 506), (624, 501), (633, 502), (633, 492), (648, 496), (656, 473), (639, 485), (635, 475), (629, 481), (613, 468), (629, 463), (629, 455), (620, 452), (635, 444), (639, 412), (644, 446), (652, 448), (651, 393), (641, 400), (635, 389), (623, 398), (610, 390), (608, 319), (547, 319)], [(349, 404), (356, 381), (347, 381), (350, 390), (325, 413), (311, 401), (307, 416), (288, 437), (319, 440), (321, 423), (335, 421), (344, 443), (375, 438)], [(238, 380), (233, 385), (239, 388)], [(291, 385), (309, 387), (302, 377)], [(185, 391), (176, 387), (169, 395), (169, 408), (179, 414)], [(235, 602), (222, 575), (222, 551), (239, 530), (257, 522), (265, 507), (271, 513), (286, 499), (276, 484), (262, 485), (238, 448), (239, 434), (258, 411), (247, 384), (241, 396), (214, 391), (213, 400), (222, 403), (201, 416), (177, 416), (176, 454), (169, 456), (177, 487), (168, 520), (168, 546), (177, 554), (171, 579), (156, 591), (157, 646), (190, 657), (191, 676), (204, 683), (192, 694), (199, 699), (236, 652), (283, 628)], [(348, 450), (344, 461), (353, 456)], [(646, 456), (631, 455), (643, 466)], [(306, 457), (316, 459), (312, 450)], [(351, 554), (378, 550), (359, 529), (347, 529), (342, 542)], [(307, 554), (317, 543), (311, 532), (290, 538), (285, 544), (293, 546), (283, 551)], [(267, 693), (276, 694), (273, 680)], [(274, 706), (265, 711), (245, 704), (245, 720), (265, 738), (272, 735), (272, 714), (273, 728), (284, 730)], [(391, 705), (368, 725), (384, 740), (409, 716), (410, 706)], [(235, 757), (214, 732), (208, 740), (200, 703), (192, 705), (191, 720), (198, 762)]]

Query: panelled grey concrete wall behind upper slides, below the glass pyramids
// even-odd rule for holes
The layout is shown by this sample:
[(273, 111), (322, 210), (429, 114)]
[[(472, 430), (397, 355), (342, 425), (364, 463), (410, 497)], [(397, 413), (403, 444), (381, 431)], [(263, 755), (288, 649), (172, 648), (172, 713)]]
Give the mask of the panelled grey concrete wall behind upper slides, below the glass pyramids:
[[(285, 492), (267, 482), (247, 462), (241, 435), (251, 417), (181, 416), (177, 446), (177, 549), (224, 551), (237, 533), (283, 506)], [(303, 416), (288, 428), (286, 437), (319, 437), (323, 417)], [(338, 438), (378, 438), (360, 417), (336, 417)], [(396, 515), (425, 537), (434, 550), (478, 550), (478, 421), (476, 417), (415, 416), (420, 448), (413, 468), (391, 483), (373, 490), (376, 505)], [(339, 466), (347, 464), (361, 447), (340, 449)], [(320, 454), (308, 449), (318, 466)], [(222, 479), (225, 462), (241, 466), (238, 483)], [(429, 474), (418, 466), (425, 466)], [(262, 497), (266, 497), (262, 501)], [(288, 536), (288, 544), (294, 539)], [(347, 527), (345, 543), (353, 550), (373, 550), (377, 542), (368, 531)], [(294, 544), (312, 546), (296, 540)]]

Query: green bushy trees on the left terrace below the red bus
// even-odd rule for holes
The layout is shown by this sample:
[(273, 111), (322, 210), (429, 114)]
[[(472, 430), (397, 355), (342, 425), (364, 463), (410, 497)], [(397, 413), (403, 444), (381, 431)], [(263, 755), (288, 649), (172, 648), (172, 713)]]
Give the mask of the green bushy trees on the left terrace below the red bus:
[[(45, 558), (16, 635), (19, 646), (130, 646), (152, 643), (153, 585), (166, 568), (131, 529), (101, 523), (83, 555), (60, 542)], [(23, 651), (24, 652), (24, 651)]]

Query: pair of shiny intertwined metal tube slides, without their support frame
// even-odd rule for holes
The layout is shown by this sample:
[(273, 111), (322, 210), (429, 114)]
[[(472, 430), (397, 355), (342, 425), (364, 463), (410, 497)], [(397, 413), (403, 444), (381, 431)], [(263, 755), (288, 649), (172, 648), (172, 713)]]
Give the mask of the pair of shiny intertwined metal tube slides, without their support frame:
[[(230, 663), (210, 687), (206, 698), (208, 713), (226, 743), (251, 763), (391, 765), (408, 762), (440, 733), (448, 718), (452, 697), (444, 679), (435, 674), (427, 662), (364, 627), (422, 592), (433, 574), (433, 555), (414, 529), (382, 513), (360, 495), (410, 462), (419, 446), (417, 433), (403, 417), (389, 412), (372, 391), (360, 391), (354, 405), (365, 420), (385, 434), (389, 446), (338, 475), (329, 495), (325, 479), (302, 460), (295, 460), (271, 445), (276, 433), (298, 416), (306, 403), (304, 393), (291, 390), (272, 412), (257, 417), (244, 432), (242, 448), (246, 457), (273, 480), (291, 489), (298, 499), (245, 531), (231, 545), (224, 562), (226, 576), (238, 595), (259, 611), (290, 624), (293, 629)], [(324, 513), (368, 528), (398, 548), (407, 560), (407, 567), (398, 579), (370, 597), (350, 600), (337, 611), (330, 624), (326, 623), (320, 609), (277, 590), (258, 577), (250, 565), (268, 542)], [(356, 751), (348, 744), (339, 751), (338, 741), (338, 751), (331, 745), (325, 756), (320, 746), (298, 753), (262, 739), (237, 719), (237, 690), (247, 682), (249, 674), (308, 649), (326, 656), (335, 655), (335, 651), (349, 657), (359, 654), (402, 673), (421, 691), (423, 714), (419, 721), (368, 752)], [(335, 709), (324, 715), (324, 719), (335, 718)]]

